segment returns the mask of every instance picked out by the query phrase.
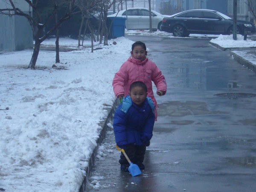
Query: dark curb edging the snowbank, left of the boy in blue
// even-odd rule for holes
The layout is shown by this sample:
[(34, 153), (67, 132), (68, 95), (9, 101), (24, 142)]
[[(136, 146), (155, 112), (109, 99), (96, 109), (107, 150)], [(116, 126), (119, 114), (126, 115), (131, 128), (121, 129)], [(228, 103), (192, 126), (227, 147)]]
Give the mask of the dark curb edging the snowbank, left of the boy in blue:
[[(119, 105), (118, 99), (116, 99), (113, 102), (113, 105), (111, 108), (104, 108), (105, 110), (108, 111), (108, 116), (99, 123), (99, 125), (102, 127), (102, 131), (99, 134), (99, 138), (97, 139), (96, 143), (97, 146), (93, 149), (93, 152), (91, 154), (91, 157), (88, 161), (88, 167), (86, 168), (86, 175), (84, 176), (83, 182), (81, 183), (81, 186), (79, 188), (79, 192), (85, 192), (85, 187), (86, 187), (86, 182), (88, 180), (88, 177), (91, 175), (91, 171), (93, 168), (94, 161), (96, 159), (96, 154), (99, 148), (99, 145), (101, 145), (102, 141), (105, 139), (107, 128), (108, 128), (108, 123), (113, 119), (113, 114), (115, 113), (116, 107)], [(107, 105), (106, 107), (110, 107), (111, 105)]]

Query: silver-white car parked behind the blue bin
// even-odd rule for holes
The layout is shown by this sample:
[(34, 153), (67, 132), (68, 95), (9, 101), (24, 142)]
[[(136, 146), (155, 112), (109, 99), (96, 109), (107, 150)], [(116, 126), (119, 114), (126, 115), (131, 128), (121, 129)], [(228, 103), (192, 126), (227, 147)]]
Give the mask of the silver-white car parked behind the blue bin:
[[(116, 12), (108, 17), (125, 17), (126, 29), (149, 29), (149, 9), (147, 8), (128, 8), (126, 10)], [(160, 29), (163, 17), (169, 15), (162, 15), (156, 11), (151, 10), (152, 15), (152, 29)]]

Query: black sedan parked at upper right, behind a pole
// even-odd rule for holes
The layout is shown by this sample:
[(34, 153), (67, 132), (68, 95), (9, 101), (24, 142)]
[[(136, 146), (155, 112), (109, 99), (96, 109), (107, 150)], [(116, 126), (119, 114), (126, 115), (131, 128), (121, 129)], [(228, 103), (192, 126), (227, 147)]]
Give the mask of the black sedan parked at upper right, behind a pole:
[[(233, 33), (233, 20), (218, 11), (209, 9), (193, 9), (164, 17), (161, 30), (172, 32), (174, 36), (186, 37), (189, 34), (223, 34)], [(253, 23), (238, 20), (237, 33), (244, 35), (255, 33)]]

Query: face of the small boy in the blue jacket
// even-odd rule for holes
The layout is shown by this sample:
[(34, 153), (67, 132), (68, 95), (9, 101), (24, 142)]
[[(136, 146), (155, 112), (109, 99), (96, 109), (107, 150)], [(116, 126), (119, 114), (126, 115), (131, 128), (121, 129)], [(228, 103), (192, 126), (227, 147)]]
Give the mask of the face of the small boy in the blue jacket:
[(144, 100), (147, 97), (147, 93), (143, 87), (133, 87), (129, 93), (131, 100), (138, 106), (141, 107)]

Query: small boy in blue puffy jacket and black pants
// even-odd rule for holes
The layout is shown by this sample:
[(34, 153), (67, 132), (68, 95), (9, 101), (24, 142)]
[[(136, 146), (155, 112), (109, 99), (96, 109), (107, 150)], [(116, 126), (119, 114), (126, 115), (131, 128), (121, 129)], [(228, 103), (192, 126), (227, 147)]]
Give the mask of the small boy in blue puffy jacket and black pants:
[[(113, 128), (116, 144), (125, 149), (131, 162), (140, 169), (145, 169), (144, 154), (153, 136), (154, 119), (154, 103), (147, 97), (147, 86), (135, 81), (130, 86), (129, 95), (123, 98), (115, 111)], [(128, 172), (130, 165), (122, 152), (119, 163), (121, 170)]]

